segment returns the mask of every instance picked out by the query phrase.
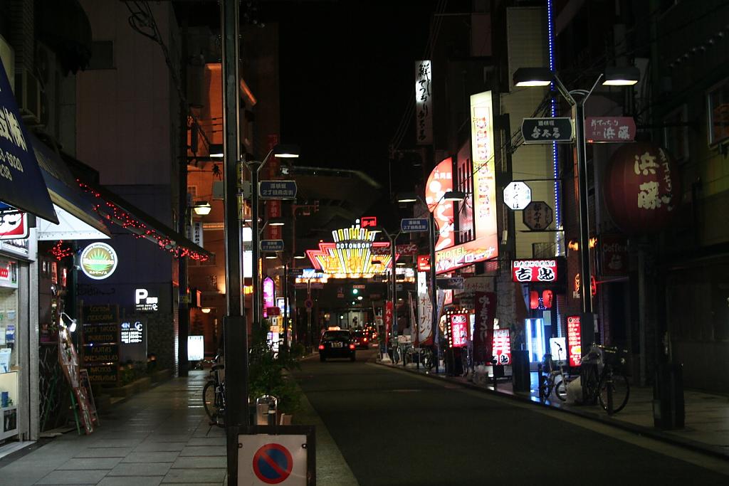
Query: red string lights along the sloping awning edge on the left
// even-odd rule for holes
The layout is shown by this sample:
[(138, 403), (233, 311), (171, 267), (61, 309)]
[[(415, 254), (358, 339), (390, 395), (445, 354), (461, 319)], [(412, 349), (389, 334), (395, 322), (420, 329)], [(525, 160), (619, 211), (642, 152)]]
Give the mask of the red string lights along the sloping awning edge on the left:
[(154, 228), (147, 227), (146, 224), (139, 221), (139, 219), (136, 219), (134, 216), (124, 211), (119, 206), (115, 205), (110, 201), (104, 200), (104, 197), (102, 197), (101, 193), (90, 187), (88, 184), (85, 184), (82, 181), (78, 181), (78, 183), (79, 187), (84, 189), (90, 195), (93, 195), (97, 199), (102, 200), (102, 203), (97, 203), (93, 206), (94, 211), (96, 211), (101, 217), (103, 217), (107, 221), (118, 224), (126, 230), (130, 230), (130, 232), (133, 233), (133, 238), (149, 238), (150, 240), (156, 240), (157, 246), (159, 246), (160, 249), (169, 251), (176, 258), (184, 258), (185, 256), (187, 256), (187, 258), (196, 260), (198, 262), (205, 262), (208, 259), (208, 255), (202, 254), (199, 251), (194, 251), (190, 248), (184, 248), (182, 246), (179, 246), (167, 235), (158, 232)]

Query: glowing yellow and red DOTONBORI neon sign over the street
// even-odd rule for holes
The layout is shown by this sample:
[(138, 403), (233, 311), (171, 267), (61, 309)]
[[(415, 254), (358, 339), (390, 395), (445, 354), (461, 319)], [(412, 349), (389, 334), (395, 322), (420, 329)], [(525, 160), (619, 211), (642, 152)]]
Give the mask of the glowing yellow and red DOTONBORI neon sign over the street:
[[(332, 231), (334, 243), (319, 243), (318, 250), (307, 250), (311, 264), (329, 278), (372, 278), (391, 266), (391, 254), (373, 248), (389, 248), (389, 243), (375, 241), (377, 232), (359, 225)], [(396, 256), (397, 258), (397, 256)]]

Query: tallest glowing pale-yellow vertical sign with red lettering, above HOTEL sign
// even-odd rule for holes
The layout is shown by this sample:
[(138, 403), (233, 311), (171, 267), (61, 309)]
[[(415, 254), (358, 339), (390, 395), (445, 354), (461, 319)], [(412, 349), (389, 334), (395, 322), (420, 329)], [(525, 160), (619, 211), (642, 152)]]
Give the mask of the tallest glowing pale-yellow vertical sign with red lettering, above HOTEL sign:
[(491, 91), (471, 96), (471, 144), (476, 238), (496, 238), (494, 110)]

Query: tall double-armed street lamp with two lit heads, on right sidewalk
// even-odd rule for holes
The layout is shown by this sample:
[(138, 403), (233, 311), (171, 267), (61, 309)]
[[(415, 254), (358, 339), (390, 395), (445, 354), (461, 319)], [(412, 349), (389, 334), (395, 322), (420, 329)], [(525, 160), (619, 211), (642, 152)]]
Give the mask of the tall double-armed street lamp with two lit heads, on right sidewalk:
[[(590, 225), (588, 212), (588, 180), (587, 180), (587, 157), (585, 157), (585, 101), (590, 97), (597, 84), (604, 78), (603, 85), (607, 86), (630, 86), (635, 85), (639, 80), (638, 68), (629, 66), (623, 68), (605, 68), (604, 73), (599, 74), (593, 87), (587, 90), (567, 90), (561, 79), (550, 68), (518, 68), (514, 73), (515, 86), (547, 86), (554, 82), (557, 89), (572, 106), (572, 117), (574, 119), (575, 144), (577, 145), (577, 188), (580, 208), (580, 296), (582, 297), (583, 320), (588, 319), (591, 327), (593, 321), (592, 293), (590, 292)], [(594, 333), (590, 330), (590, 336)], [(582, 334), (583, 337), (585, 334)], [(590, 339), (590, 342), (592, 339)], [(590, 344), (588, 342), (588, 344)]]

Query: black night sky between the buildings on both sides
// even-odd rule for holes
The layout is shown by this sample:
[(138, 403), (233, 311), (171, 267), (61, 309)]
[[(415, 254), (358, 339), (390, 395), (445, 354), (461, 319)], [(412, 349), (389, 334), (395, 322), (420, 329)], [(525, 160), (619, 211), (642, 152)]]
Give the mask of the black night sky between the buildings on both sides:
[(365, 171), (387, 190), (388, 144), (414, 96), (435, 3), (285, 2), (281, 138), (302, 146), (302, 165)]

